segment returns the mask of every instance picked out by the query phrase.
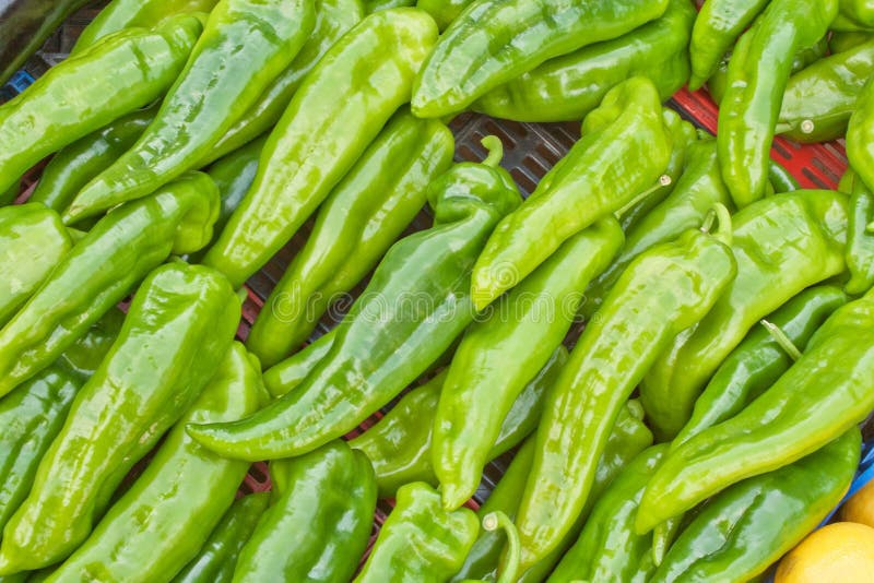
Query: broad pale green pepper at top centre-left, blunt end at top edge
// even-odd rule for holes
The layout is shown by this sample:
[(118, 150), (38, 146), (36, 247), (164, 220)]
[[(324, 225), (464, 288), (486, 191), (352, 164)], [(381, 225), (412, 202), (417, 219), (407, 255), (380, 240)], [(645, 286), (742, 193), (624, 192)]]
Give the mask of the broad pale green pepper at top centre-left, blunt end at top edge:
[(336, 43), (264, 145), (255, 183), (204, 263), (241, 285), (314, 213), (377, 136), (437, 40), (416, 9), (382, 10)]

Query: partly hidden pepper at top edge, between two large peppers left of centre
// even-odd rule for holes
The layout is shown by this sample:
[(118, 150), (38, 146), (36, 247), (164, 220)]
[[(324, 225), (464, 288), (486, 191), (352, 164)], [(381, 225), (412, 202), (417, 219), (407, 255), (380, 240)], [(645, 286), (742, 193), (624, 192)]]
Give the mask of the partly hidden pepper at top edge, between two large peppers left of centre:
[(322, 56), (346, 32), (364, 19), (361, 0), (315, 0), (316, 25), (292, 64), (264, 90), (258, 100), (240, 117), (201, 159), (213, 162), (243, 147), (263, 134), (282, 117), (297, 87)]

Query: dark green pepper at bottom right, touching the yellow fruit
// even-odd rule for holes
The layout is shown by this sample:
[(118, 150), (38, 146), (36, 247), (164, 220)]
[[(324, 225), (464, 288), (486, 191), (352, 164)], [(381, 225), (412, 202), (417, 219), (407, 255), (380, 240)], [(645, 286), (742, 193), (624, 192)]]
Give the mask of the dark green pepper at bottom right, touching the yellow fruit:
[(800, 543), (847, 492), (859, 464), (852, 428), (798, 462), (725, 489), (686, 526), (653, 583), (742, 583)]

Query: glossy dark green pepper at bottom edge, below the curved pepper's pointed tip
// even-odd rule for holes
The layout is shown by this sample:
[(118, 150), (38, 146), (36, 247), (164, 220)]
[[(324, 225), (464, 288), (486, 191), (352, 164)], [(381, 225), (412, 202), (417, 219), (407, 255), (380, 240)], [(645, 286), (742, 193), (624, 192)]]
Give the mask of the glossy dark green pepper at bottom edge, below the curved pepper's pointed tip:
[(370, 462), (336, 440), (270, 464), (271, 473), (284, 466), (283, 487), (243, 547), (234, 581), (350, 581), (376, 510)]

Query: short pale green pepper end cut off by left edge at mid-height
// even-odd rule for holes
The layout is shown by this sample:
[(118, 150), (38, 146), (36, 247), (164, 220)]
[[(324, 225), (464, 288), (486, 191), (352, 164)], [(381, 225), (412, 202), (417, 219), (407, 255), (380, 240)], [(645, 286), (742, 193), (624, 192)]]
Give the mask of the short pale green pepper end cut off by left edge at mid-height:
[(72, 248), (58, 213), (28, 203), (0, 209), (0, 325)]

